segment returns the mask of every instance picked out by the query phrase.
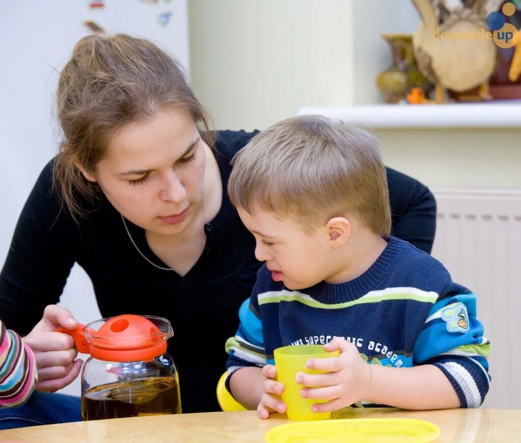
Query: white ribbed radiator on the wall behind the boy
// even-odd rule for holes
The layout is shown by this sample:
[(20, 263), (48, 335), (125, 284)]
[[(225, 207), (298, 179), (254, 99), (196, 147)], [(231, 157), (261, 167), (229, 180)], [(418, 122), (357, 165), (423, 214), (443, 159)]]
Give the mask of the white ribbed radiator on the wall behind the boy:
[[(432, 255), (477, 296), (491, 341), (486, 408), (521, 409), (521, 190), (433, 189), (438, 202)], [(518, 283), (519, 285), (519, 283)], [(521, 335), (521, 334), (520, 334)]]

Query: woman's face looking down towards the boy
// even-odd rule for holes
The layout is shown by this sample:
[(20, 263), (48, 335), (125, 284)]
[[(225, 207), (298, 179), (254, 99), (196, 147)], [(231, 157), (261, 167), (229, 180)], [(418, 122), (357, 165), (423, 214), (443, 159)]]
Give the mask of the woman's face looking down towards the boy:
[(160, 111), (117, 131), (91, 180), (132, 223), (176, 235), (203, 207), (205, 146), (188, 112)]

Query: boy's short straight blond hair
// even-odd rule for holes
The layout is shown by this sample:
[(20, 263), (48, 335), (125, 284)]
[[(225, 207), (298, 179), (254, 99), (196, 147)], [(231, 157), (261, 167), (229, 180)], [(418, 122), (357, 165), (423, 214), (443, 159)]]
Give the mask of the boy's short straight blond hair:
[(355, 214), (387, 237), (391, 211), (378, 142), (358, 126), (322, 116), (282, 120), (232, 159), (231, 202), (249, 213), (295, 217), (309, 232), (330, 218)]

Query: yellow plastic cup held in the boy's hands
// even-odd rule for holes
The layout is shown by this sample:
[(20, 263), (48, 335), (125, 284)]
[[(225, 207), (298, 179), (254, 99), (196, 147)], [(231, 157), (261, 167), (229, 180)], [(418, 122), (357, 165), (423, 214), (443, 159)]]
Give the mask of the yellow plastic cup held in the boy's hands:
[(338, 357), (340, 351), (326, 352), (322, 345), (284, 346), (274, 350), (277, 379), (284, 385), (282, 401), (286, 403), (290, 420), (326, 420), (330, 412), (313, 412), (311, 407), (315, 403), (324, 403), (327, 400), (303, 398), (300, 395), (302, 385), (295, 382), (297, 372), (307, 374), (321, 374), (327, 371), (315, 371), (306, 368), (306, 361), (310, 358)]

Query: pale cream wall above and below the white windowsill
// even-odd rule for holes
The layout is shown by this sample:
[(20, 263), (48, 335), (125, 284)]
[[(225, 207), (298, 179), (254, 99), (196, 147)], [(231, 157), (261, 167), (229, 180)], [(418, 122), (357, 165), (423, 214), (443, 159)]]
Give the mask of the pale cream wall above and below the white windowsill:
[[(418, 20), (411, 0), (192, 1), (193, 86), (219, 129), (263, 129), (302, 106), (379, 103), (375, 77), (390, 64), (380, 33)], [(521, 188), (521, 129), (376, 134), (389, 166), (430, 187)]]

